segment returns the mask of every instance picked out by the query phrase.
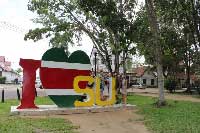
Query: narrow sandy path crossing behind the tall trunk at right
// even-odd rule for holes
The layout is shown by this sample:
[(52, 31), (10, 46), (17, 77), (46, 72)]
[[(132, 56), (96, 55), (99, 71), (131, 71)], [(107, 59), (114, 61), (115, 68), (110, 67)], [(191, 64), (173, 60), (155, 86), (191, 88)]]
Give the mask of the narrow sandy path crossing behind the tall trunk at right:
[[(132, 92), (136, 95), (142, 95), (142, 96), (151, 96), (151, 97), (158, 97), (158, 89), (150, 89), (147, 88), (145, 90), (141, 89), (130, 89), (129, 92)], [(172, 99), (172, 100), (179, 100), (179, 101), (191, 101), (191, 102), (200, 102), (200, 98), (195, 98), (192, 95), (181, 95), (181, 94), (171, 94), (165, 92), (165, 98), (166, 99)]]

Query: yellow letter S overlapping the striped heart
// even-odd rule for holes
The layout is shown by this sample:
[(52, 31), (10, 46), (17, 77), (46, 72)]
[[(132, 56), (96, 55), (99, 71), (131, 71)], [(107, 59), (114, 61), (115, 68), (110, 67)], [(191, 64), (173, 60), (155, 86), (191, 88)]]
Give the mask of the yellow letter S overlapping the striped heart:
[(75, 107), (85, 107), (85, 106), (93, 106), (94, 104), (94, 91), (93, 89), (90, 89), (86, 87), (85, 89), (80, 89), (78, 86), (78, 83), (80, 81), (88, 81), (89, 84), (92, 84), (94, 82), (94, 78), (90, 76), (77, 76), (74, 78), (74, 90), (77, 93), (86, 93), (89, 95), (89, 99), (86, 102), (80, 102), (80, 101), (75, 101), (74, 106)]

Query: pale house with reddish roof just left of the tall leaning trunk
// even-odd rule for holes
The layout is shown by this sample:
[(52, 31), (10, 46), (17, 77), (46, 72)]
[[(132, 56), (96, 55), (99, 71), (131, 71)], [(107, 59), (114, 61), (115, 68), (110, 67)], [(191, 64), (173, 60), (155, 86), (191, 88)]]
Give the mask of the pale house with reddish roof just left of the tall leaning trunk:
[(140, 83), (147, 87), (157, 87), (157, 74), (150, 67), (137, 67), (133, 70), (135, 73), (134, 82)]

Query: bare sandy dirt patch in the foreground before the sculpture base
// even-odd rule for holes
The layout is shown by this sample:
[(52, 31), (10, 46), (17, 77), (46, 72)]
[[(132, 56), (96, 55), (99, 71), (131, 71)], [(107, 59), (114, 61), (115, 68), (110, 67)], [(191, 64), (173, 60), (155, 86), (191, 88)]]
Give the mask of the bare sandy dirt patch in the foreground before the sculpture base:
[(149, 133), (135, 111), (74, 114), (64, 116), (75, 125), (80, 133)]

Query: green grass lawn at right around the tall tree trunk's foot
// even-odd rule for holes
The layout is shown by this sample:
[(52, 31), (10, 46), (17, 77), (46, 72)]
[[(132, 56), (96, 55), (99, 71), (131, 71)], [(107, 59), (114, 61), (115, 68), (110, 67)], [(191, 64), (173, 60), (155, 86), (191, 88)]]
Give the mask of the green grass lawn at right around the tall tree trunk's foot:
[(156, 98), (128, 96), (128, 102), (138, 107), (145, 125), (155, 133), (200, 133), (200, 103), (168, 100), (168, 105), (157, 108)]

